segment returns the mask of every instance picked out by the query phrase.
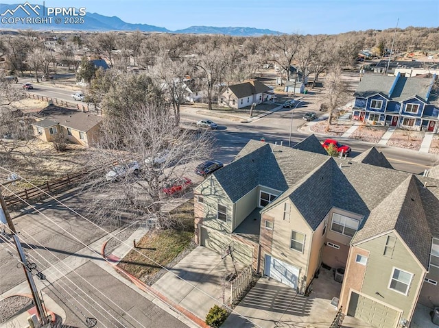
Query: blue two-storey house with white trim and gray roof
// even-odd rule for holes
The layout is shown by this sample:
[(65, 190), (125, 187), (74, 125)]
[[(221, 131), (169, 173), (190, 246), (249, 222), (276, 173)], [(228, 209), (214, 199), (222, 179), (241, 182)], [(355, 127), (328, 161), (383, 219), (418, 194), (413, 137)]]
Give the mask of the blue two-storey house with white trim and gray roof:
[(432, 77), (365, 75), (354, 93), (353, 119), (438, 132), (439, 94)]

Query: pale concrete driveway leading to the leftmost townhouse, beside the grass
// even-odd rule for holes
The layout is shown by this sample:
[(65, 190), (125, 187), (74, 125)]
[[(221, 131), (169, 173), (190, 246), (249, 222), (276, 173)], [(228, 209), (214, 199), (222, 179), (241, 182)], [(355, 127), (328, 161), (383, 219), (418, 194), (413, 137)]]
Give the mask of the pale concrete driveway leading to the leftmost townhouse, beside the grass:
[[(237, 262), (235, 265), (238, 273), (244, 268)], [(230, 297), (224, 277), (233, 273), (235, 268), (230, 256), (222, 260), (218, 253), (199, 246), (158, 279), (152, 288), (204, 320), (213, 305), (221, 305)]]

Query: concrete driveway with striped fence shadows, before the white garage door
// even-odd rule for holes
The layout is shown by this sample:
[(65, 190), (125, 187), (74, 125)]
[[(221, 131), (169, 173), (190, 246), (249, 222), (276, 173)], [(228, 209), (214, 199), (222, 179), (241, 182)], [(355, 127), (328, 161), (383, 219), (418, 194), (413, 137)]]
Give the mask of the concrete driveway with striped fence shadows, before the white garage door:
[[(313, 281), (309, 297), (274, 279), (263, 277), (228, 316), (221, 328), (328, 328), (337, 314), (331, 305), (340, 295), (342, 284), (334, 281), (331, 271), (322, 269)], [(369, 328), (361, 320), (346, 316), (342, 327)]]

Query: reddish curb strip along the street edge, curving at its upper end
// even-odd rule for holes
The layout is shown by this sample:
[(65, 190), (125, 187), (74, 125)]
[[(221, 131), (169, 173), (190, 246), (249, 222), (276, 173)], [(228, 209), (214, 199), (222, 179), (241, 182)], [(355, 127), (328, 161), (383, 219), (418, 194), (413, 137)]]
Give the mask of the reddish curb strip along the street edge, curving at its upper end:
[[(102, 244), (102, 248), (101, 248), (101, 255), (106, 260), (107, 260), (107, 257), (104, 254), (105, 254), (105, 247), (106, 247), (108, 241), (109, 240), (104, 242), (104, 244)], [(144, 283), (143, 281), (137, 279), (136, 277), (134, 277), (130, 273), (126, 272), (126, 270), (123, 270), (122, 268), (119, 268), (119, 266), (117, 266), (117, 264), (110, 264), (110, 266), (112, 266), (115, 270), (119, 271), (119, 273), (122, 273), (123, 275), (125, 275), (140, 290), (143, 290), (143, 292), (147, 292), (149, 294), (153, 294), (155, 297), (158, 297), (158, 299), (161, 299), (161, 301), (163, 301), (164, 303), (169, 305), (169, 307), (172, 307), (174, 310), (176, 310), (176, 312), (182, 314), (183, 316), (185, 316), (186, 318), (191, 320), (193, 323), (195, 323), (195, 325), (198, 325), (201, 328), (211, 328), (209, 325), (207, 325), (204, 322), (204, 320), (202, 320), (201, 318), (198, 318), (198, 316), (195, 316), (195, 314), (193, 314), (192, 312), (186, 310), (184, 307), (178, 305), (177, 303), (174, 303), (173, 301), (167, 299), (167, 297), (165, 297), (165, 295), (163, 295), (160, 292), (154, 290), (154, 288), (152, 288), (151, 286), (147, 286), (146, 283)]]

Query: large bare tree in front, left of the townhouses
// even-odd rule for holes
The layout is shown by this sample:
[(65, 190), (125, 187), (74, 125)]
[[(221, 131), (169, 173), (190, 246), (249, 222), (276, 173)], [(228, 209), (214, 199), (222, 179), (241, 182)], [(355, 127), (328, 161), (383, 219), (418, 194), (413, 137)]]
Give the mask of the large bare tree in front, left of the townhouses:
[[(174, 117), (163, 103), (147, 103), (131, 110), (119, 118), (117, 125), (115, 120), (106, 119), (91, 163), (104, 168), (102, 175), (116, 163), (137, 161), (141, 170), (123, 175), (110, 185), (102, 176), (95, 179), (93, 190), (107, 196), (90, 199), (88, 212), (106, 223), (130, 218), (154, 220), (159, 228), (176, 224), (161, 211), (162, 204), (167, 202), (163, 186), (185, 176), (193, 170), (193, 163), (209, 155), (209, 136), (208, 131), (194, 134), (191, 130), (176, 129)], [(163, 151), (168, 154), (165, 162), (157, 164), (154, 159)]]

